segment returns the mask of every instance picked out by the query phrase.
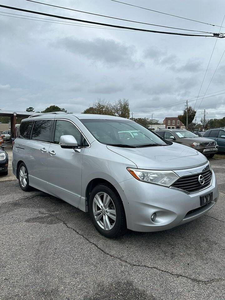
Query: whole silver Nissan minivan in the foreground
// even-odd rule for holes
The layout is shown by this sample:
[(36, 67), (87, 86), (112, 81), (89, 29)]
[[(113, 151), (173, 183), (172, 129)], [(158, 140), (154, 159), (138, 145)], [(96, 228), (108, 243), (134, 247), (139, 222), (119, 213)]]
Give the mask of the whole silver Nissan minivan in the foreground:
[(22, 120), (13, 173), (90, 213), (106, 237), (190, 222), (217, 202), (207, 158), (125, 118), (63, 112)]

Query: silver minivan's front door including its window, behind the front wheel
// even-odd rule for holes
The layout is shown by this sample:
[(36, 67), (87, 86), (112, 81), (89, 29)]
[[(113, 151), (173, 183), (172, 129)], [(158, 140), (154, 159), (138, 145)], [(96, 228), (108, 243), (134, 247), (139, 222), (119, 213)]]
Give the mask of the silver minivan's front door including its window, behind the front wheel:
[(78, 207), (81, 200), (81, 172), (84, 148), (81, 152), (61, 148), (62, 135), (73, 135), (81, 145), (82, 135), (76, 126), (67, 120), (56, 120), (54, 141), (47, 152), (48, 189), (57, 197)]

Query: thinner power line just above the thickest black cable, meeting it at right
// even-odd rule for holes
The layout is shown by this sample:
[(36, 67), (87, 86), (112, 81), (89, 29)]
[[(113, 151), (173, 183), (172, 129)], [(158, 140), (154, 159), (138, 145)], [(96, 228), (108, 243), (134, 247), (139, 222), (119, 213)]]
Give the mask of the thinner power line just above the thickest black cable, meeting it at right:
[(58, 5), (53, 5), (53, 4), (49, 4), (49, 3), (38, 2), (38, 1), (34, 1), (34, 0), (25, 0), (25, 1), (34, 2), (34, 3), (38, 3), (38, 4), (43, 4), (43, 5), (47, 5), (47, 6), (51, 6), (51, 7), (56, 7), (56, 8), (63, 8), (63, 9), (67, 9), (67, 10), (72, 10), (74, 12), (87, 13), (87, 14), (94, 15), (94, 16), (100, 16), (100, 17), (105, 17), (105, 18), (122, 20), (122, 21), (126, 21), (126, 22), (133, 22), (133, 23), (145, 24), (145, 25), (151, 25), (151, 26), (158, 26), (158, 27), (165, 27), (165, 28), (178, 29), (178, 30), (184, 30), (184, 31), (202, 32), (202, 33), (211, 33), (212, 34), (212, 32), (207, 32), (207, 31), (191, 30), (191, 29), (183, 29), (183, 28), (177, 28), (177, 27), (163, 26), (163, 25), (157, 25), (157, 24), (139, 22), (139, 21), (134, 21), (134, 20), (122, 19), (122, 18), (117, 18), (117, 17), (105, 16), (105, 15), (101, 15), (101, 14), (93, 13), (93, 12), (84, 12), (84, 11), (78, 10), (78, 9), (67, 8), (67, 7), (63, 7), (63, 6), (58, 6)]

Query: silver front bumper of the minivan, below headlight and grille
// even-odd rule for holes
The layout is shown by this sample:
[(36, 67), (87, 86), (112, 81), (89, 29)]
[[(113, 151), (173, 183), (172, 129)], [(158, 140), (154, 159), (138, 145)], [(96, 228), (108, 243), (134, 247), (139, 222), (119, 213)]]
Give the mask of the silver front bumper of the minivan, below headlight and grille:
[[(219, 192), (214, 172), (211, 185), (188, 194), (181, 190), (138, 181), (135, 178), (115, 185), (126, 212), (127, 227), (134, 231), (167, 230), (201, 217), (217, 202)], [(200, 196), (213, 193), (213, 200), (201, 207)], [(156, 213), (153, 222), (151, 216)]]

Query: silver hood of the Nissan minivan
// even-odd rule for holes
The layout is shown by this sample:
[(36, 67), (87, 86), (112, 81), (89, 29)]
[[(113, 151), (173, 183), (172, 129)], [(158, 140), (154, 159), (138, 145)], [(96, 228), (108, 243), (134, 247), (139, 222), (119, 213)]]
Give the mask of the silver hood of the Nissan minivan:
[(169, 146), (145, 148), (107, 148), (128, 158), (140, 169), (179, 170), (195, 168), (207, 163), (207, 158), (195, 149), (173, 143)]

